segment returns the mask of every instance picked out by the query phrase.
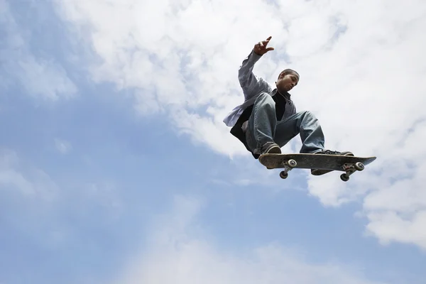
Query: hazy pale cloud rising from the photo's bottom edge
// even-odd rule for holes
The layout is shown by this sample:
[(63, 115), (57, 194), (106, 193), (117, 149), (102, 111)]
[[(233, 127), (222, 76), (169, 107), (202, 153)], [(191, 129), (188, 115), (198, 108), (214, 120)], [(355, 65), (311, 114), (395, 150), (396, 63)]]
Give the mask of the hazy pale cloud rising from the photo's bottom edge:
[(144, 249), (129, 256), (114, 283), (379, 283), (354, 266), (313, 264), (278, 244), (244, 255), (221, 249), (197, 222), (203, 206), (192, 197), (175, 197), (170, 212), (153, 220)]

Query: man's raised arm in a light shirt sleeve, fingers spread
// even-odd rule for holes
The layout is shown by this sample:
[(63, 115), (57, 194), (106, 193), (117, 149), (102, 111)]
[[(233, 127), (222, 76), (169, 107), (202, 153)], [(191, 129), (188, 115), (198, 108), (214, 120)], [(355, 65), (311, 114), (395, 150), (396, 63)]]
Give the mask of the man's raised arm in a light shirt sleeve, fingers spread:
[(266, 47), (271, 38), (272, 37), (270, 36), (266, 40), (256, 43), (249, 56), (244, 59), (241, 66), (239, 67), (238, 79), (246, 99), (250, 99), (255, 94), (263, 92), (269, 87), (268, 83), (253, 74), (253, 67), (254, 64), (262, 57), (262, 55), (270, 50), (273, 50), (273, 48)]

